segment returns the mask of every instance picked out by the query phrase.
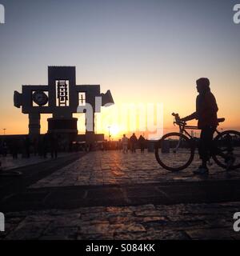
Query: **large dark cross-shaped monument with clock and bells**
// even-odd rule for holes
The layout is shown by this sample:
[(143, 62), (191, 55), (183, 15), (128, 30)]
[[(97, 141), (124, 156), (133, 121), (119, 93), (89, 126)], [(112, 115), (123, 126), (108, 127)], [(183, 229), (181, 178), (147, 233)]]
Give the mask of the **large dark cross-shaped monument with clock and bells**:
[[(84, 106), (92, 106), (94, 113), (101, 107), (95, 106), (95, 98), (102, 98), (102, 106), (114, 104), (110, 90), (100, 93), (99, 85), (76, 85), (76, 69), (74, 66), (49, 66), (47, 86), (22, 86), (22, 94), (14, 91), (14, 106), (22, 113), (29, 115), (29, 134), (34, 137), (40, 134), (41, 114), (53, 114), (48, 119), (48, 133), (65, 134), (73, 140), (78, 134), (78, 118), (74, 113), (85, 113)], [(82, 108), (79, 108), (82, 106)], [(93, 127), (94, 127), (94, 114)], [(94, 137), (94, 128), (86, 130), (86, 138)]]

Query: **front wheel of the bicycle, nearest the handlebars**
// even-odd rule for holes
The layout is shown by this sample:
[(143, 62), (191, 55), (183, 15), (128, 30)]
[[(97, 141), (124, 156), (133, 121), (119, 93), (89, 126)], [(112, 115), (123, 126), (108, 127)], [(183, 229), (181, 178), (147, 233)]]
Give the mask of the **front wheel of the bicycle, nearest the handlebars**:
[(193, 161), (194, 148), (184, 134), (165, 134), (155, 145), (155, 157), (166, 170), (183, 170)]

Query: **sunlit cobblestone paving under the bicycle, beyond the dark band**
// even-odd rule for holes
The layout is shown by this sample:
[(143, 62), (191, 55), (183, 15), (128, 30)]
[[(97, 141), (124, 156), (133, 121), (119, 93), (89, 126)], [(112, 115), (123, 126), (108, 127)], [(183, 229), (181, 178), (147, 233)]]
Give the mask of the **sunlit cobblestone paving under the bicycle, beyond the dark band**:
[(154, 153), (141, 154), (138, 151), (136, 154), (122, 154), (120, 151), (97, 151), (86, 154), (31, 187), (133, 184), (173, 180), (193, 182), (202, 179), (240, 178), (240, 170), (226, 173), (214, 162), (207, 177), (195, 176), (192, 171), (199, 165), (196, 155), (194, 162), (186, 170), (173, 173), (158, 165)]

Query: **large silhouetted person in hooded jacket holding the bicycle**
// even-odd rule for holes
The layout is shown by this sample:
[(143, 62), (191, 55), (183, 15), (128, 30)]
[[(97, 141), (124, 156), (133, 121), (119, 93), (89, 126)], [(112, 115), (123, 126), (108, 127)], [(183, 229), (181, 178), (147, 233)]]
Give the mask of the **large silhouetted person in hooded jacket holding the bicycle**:
[(197, 170), (194, 170), (194, 174), (206, 174), (208, 173), (206, 162), (210, 159), (210, 153), (214, 151), (213, 136), (218, 126), (218, 105), (214, 94), (210, 91), (208, 78), (199, 78), (197, 80), (197, 90), (196, 111), (186, 118), (182, 118), (181, 121), (186, 122), (194, 118), (198, 119), (198, 128), (201, 130), (198, 153), (202, 159), (202, 165)]

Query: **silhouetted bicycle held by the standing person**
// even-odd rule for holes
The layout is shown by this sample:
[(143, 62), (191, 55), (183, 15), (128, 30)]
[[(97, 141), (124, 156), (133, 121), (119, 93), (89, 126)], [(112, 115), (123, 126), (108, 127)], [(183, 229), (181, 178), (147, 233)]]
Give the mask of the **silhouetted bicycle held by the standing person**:
[[(164, 169), (178, 171), (186, 169), (194, 160), (195, 149), (198, 146), (198, 138), (194, 137), (197, 126), (187, 126), (181, 122), (178, 114), (174, 116), (174, 126), (179, 126), (179, 132), (165, 134), (155, 144), (155, 157)], [(218, 122), (224, 122), (225, 118), (218, 118)], [(192, 130), (191, 134), (187, 130)], [(217, 136), (213, 139), (214, 152), (210, 152), (210, 158), (226, 170), (235, 170), (240, 167), (240, 133), (237, 130), (215, 130)], [(220, 154), (221, 152), (221, 154)], [(219, 155), (220, 154), (220, 155)], [(221, 156), (222, 155), (222, 156)], [(232, 161), (226, 162), (226, 158)]]

